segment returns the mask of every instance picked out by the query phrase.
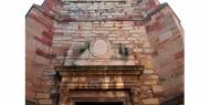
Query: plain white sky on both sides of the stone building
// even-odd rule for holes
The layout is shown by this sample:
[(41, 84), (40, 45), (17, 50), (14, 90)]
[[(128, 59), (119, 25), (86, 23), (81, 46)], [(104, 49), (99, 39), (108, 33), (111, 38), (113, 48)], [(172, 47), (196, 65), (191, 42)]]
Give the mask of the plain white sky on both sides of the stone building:
[[(210, 0), (159, 1), (169, 3), (185, 30), (185, 105), (210, 105)], [(25, 14), (33, 3), (42, 2), (43, 0), (0, 1), (2, 105), (24, 105)]]

